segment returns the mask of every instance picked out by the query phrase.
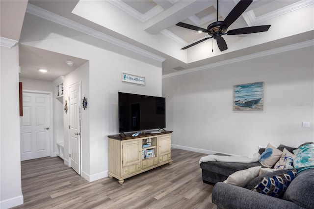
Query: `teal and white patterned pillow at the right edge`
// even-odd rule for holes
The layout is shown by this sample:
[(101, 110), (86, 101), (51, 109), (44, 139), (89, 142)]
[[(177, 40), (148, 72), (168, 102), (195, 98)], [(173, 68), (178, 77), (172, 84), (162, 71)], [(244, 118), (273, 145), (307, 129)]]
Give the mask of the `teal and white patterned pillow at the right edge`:
[(298, 172), (314, 168), (314, 144), (305, 144), (293, 150), (293, 154), (296, 155), (293, 166), (298, 169)]

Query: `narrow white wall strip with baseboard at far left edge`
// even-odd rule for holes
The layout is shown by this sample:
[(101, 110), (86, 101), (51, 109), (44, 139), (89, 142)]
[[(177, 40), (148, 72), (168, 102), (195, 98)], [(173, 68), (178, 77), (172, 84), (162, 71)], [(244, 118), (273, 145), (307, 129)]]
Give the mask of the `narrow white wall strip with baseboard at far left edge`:
[(20, 155), (19, 47), (1, 46), (0, 208), (23, 204)]

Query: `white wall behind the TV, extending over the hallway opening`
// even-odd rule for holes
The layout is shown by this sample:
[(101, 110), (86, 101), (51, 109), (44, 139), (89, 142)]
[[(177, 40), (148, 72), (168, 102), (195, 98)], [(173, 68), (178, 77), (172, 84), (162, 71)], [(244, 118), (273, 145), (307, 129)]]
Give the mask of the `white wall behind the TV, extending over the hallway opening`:
[[(88, 162), (83, 162), (83, 177), (89, 181), (106, 177), (107, 135), (118, 133), (118, 92), (161, 96), (161, 63), (147, 57), (141, 59), (145, 62), (130, 58), (122, 55), (130, 53), (126, 49), (96, 38), (90, 39), (85, 34), (27, 13), (20, 43), (89, 60), (90, 150), (89, 154), (83, 155), (90, 158)], [(121, 54), (107, 51), (107, 48), (121, 51)], [(146, 85), (122, 82), (122, 72), (145, 77)]]

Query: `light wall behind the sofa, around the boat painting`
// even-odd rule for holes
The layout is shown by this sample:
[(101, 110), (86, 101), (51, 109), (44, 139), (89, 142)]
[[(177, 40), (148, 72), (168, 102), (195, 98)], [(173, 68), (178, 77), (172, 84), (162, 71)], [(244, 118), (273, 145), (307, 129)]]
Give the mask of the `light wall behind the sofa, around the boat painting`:
[[(173, 147), (252, 156), (314, 140), (313, 46), (162, 79)], [(233, 86), (264, 82), (263, 111), (233, 111)], [(303, 128), (302, 121), (311, 122)]]

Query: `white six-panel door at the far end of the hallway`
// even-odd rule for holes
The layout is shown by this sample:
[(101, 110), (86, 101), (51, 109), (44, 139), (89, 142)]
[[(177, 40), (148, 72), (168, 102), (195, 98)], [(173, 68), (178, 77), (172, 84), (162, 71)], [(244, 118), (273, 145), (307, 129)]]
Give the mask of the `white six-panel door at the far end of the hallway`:
[(50, 156), (49, 94), (23, 92), (21, 160)]

